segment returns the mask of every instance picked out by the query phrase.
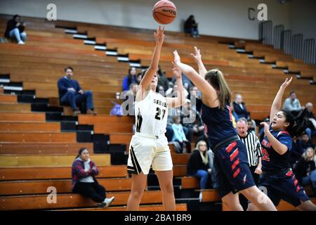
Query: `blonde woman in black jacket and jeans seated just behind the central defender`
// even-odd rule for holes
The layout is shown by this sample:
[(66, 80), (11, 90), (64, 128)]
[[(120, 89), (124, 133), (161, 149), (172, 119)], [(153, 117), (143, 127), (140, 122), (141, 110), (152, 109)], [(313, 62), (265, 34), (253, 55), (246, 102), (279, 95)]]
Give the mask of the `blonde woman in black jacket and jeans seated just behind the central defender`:
[(205, 189), (211, 169), (209, 167), (209, 155), (205, 141), (199, 141), (197, 148), (193, 150), (187, 163), (187, 175), (195, 176), (200, 179), (199, 187)]

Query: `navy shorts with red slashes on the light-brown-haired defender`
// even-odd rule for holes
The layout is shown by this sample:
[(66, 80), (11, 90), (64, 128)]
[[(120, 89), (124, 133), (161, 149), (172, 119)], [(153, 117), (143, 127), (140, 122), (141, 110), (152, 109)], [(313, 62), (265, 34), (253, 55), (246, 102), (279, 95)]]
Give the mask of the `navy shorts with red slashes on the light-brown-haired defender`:
[(246, 146), (242, 141), (234, 141), (218, 149), (214, 155), (214, 167), (220, 198), (230, 192), (235, 194), (256, 186), (249, 168)]

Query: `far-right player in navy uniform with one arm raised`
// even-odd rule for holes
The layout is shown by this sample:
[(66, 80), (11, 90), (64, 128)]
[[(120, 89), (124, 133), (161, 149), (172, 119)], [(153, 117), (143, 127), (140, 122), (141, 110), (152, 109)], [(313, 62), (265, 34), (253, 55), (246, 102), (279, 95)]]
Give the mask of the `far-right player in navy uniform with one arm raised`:
[[(262, 122), (265, 138), (261, 143), (262, 171), (259, 187), (265, 192), (275, 205), (281, 199), (297, 207), (298, 210), (316, 210), (316, 206), (309, 200), (304, 189), (298, 184), (289, 163), (292, 137), (300, 136), (306, 129), (308, 120), (304, 117), (294, 117), (286, 110), (280, 110), (284, 90), (291, 84), (286, 79), (280, 86), (270, 111), (270, 126)], [(248, 210), (257, 210), (249, 204)]]

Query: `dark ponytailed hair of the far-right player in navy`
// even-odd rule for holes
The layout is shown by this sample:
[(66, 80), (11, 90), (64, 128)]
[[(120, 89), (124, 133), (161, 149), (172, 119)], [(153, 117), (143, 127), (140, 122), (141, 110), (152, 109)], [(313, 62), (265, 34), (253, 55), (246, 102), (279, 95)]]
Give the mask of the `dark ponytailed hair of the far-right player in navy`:
[(301, 136), (305, 129), (308, 127), (308, 118), (304, 116), (303, 113), (299, 113), (297, 117), (287, 111), (282, 110), (286, 122), (289, 122), (289, 127), (287, 127), (287, 131), (291, 135), (292, 138)]

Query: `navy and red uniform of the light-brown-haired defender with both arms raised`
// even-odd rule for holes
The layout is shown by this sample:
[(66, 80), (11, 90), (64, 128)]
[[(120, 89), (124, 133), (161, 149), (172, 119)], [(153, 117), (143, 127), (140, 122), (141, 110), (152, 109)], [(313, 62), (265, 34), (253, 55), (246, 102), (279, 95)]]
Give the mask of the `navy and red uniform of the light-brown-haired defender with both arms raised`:
[(214, 167), (220, 198), (255, 186), (248, 164), (246, 146), (237, 137), (232, 126), (230, 106), (222, 110), (202, 104), (202, 120), (214, 151)]

